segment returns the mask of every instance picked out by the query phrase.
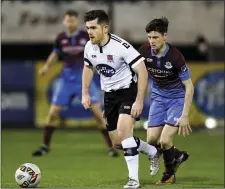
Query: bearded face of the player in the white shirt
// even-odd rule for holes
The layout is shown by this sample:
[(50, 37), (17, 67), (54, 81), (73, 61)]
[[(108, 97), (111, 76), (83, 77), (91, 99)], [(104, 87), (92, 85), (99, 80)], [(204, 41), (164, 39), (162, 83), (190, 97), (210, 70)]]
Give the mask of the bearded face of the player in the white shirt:
[(86, 28), (92, 44), (100, 44), (108, 33), (108, 25), (98, 24), (98, 19), (86, 22)]

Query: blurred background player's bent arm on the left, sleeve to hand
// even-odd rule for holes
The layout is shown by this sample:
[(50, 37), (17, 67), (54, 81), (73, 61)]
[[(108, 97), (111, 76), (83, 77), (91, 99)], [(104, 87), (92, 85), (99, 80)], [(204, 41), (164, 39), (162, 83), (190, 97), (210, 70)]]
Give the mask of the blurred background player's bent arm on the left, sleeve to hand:
[(54, 48), (53, 48), (51, 54), (48, 56), (45, 65), (39, 71), (39, 73), (41, 75), (44, 75), (49, 70), (49, 68), (52, 66), (52, 64), (54, 64), (58, 60), (59, 53), (60, 53), (60, 42), (57, 37), (55, 40)]

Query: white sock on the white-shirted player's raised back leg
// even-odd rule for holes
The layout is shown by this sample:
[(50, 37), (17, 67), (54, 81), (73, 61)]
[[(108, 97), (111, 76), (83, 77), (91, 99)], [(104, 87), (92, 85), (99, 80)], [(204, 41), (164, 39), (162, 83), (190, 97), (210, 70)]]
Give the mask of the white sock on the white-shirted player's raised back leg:
[(150, 157), (154, 157), (156, 155), (157, 149), (155, 148), (155, 146), (152, 146), (152, 145), (148, 144), (147, 142), (144, 142), (143, 140), (141, 140), (138, 137), (134, 137), (134, 139), (137, 143), (139, 152), (147, 154)]

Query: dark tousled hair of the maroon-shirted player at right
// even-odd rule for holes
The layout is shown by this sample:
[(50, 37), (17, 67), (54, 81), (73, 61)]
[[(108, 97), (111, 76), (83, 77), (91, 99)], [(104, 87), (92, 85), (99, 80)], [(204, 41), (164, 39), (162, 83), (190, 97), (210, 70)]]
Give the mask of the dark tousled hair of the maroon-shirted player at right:
[(147, 24), (147, 26), (145, 27), (145, 31), (147, 33), (151, 31), (157, 31), (161, 34), (164, 34), (167, 33), (168, 25), (169, 21), (166, 17), (157, 18)]

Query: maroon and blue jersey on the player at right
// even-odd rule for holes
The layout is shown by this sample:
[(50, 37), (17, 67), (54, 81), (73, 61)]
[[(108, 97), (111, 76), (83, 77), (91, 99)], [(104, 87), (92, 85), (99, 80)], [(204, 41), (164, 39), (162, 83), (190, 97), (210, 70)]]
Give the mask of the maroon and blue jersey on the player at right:
[(152, 79), (152, 97), (184, 98), (185, 87), (182, 81), (190, 78), (190, 70), (182, 53), (166, 43), (166, 50), (157, 57), (149, 44), (139, 49), (145, 57), (145, 64)]

